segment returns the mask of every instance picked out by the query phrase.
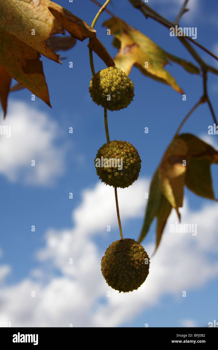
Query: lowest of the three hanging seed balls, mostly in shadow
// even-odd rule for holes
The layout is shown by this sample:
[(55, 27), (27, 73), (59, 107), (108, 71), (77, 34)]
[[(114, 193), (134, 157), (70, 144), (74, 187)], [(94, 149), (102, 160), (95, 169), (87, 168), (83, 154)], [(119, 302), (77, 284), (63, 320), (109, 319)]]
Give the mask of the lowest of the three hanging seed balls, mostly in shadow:
[(108, 286), (119, 292), (132, 292), (148, 276), (148, 254), (134, 239), (117, 240), (107, 248), (101, 259), (101, 272)]

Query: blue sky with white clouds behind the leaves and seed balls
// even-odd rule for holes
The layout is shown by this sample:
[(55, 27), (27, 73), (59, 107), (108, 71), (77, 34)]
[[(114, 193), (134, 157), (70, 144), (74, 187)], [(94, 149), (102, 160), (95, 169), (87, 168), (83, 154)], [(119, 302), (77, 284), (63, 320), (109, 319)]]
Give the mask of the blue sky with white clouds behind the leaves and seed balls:
[[(91, 1), (57, 1), (91, 24), (98, 7)], [(149, 1), (149, 6), (173, 21), (181, 1)], [(197, 42), (218, 55), (216, 1), (190, 1), (190, 12), (180, 25), (197, 27)], [(164, 50), (194, 60), (169, 30), (146, 20), (127, 0), (112, 1), (114, 14), (142, 31)], [(112, 57), (113, 37), (106, 35), (103, 13), (95, 29)], [(106, 142), (103, 109), (89, 94), (91, 70), (87, 40), (60, 52), (61, 64), (42, 57), (52, 109), (40, 99), (31, 101), (27, 89), (11, 93), (8, 114), (1, 125), (12, 126), (12, 136), (0, 136), (1, 240), (0, 321), (12, 327), (186, 327), (217, 320), (218, 204), (185, 189), (182, 222), (197, 223), (196, 236), (171, 234), (170, 216), (159, 250), (151, 258), (146, 282), (132, 293), (107, 286), (100, 271), (106, 248), (119, 239), (113, 188), (101, 184), (94, 158)], [(196, 48), (196, 47), (195, 47)], [(218, 62), (197, 49), (218, 68)], [(73, 68), (69, 68), (69, 61)], [(94, 54), (96, 72), (105, 68)], [(111, 140), (126, 140), (139, 151), (142, 167), (138, 181), (118, 190), (125, 238), (138, 239), (146, 208), (145, 192), (184, 116), (202, 95), (202, 78), (176, 64), (167, 65), (187, 96), (156, 82), (133, 68), (135, 97), (127, 109), (108, 111)], [(218, 114), (218, 77), (209, 74), (210, 98)], [(182, 128), (218, 149), (208, 106), (200, 106)], [(149, 133), (145, 134), (145, 127)], [(73, 134), (69, 134), (73, 127)], [(31, 167), (34, 159), (36, 166)], [(218, 169), (211, 167), (218, 198)], [(69, 199), (69, 193), (73, 199)], [(31, 232), (35, 225), (35, 232)], [(111, 231), (107, 232), (107, 225)], [(155, 222), (143, 245), (152, 255)], [(69, 265), (73, 258), (73, 265)], [(186, 291), (187, 296), (182, 297)], [(35, 291), (35, 297), (31, 292)], [(111, 296), (107, 297), (107, 292)], [(217, 320), (218, 321), (218, 320)]]

